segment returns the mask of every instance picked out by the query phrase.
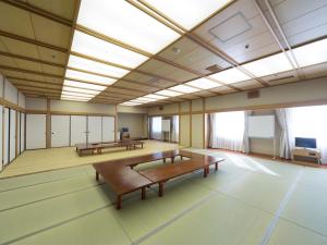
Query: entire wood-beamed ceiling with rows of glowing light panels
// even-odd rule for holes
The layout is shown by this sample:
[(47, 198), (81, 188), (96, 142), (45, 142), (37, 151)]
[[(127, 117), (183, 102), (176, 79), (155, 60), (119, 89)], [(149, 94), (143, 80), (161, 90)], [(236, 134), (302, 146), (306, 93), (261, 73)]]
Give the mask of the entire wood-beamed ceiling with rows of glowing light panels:
[(327, 0), (3, 0), (0, 71), (26, 96), (128, 106), (294, 83), (327, 75), (326, 12)]

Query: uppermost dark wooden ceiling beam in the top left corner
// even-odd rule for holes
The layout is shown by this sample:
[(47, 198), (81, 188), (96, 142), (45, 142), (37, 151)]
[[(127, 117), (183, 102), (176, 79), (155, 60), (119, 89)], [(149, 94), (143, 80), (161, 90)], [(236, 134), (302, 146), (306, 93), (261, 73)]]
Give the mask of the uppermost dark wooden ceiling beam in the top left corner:
[(35, 5), (29, 4), (28, 2), (24, 1), (15, 1), (15, 0), (0, 0), (1, 2), (4, 2), (7, 4), (10, 4), (12, 7), (19, 8), (21, 10), (28, 11), (31, 13), (35, 13), (37, 15), (40, 15), (43, 17), (46, 17), (48, 20), (51, 20), (53, 22), (60, 23), (62, 25), (72, 26), (73, 22), (69, 19), (62, 17), (60, 15), (57, 15), (55, 13), (48, 12), (46, 10), (43, 10), (40, 8), (37, 8)]

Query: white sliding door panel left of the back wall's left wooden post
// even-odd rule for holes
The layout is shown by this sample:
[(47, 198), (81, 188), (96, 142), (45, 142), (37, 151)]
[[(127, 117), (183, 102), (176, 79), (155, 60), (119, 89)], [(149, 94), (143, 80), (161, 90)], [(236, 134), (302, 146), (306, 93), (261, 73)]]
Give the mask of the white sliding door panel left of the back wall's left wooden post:
[(26, 115), (26, 149), (46, 148), (46, 114)]

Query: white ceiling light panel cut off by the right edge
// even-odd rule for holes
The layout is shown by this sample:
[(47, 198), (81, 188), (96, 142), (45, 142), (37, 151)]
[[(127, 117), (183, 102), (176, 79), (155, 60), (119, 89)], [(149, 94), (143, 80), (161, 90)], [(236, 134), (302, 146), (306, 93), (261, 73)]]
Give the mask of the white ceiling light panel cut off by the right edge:
[(327, 38), (293, 49), (300, 66), (327, 62)]

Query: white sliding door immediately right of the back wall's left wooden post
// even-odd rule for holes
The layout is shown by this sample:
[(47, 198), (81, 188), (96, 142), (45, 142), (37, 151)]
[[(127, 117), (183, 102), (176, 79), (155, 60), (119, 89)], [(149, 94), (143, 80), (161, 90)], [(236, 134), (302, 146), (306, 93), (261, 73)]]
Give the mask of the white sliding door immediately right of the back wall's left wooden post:
[(51, 147), (70, 145), (70, 115), (51, 115)]

